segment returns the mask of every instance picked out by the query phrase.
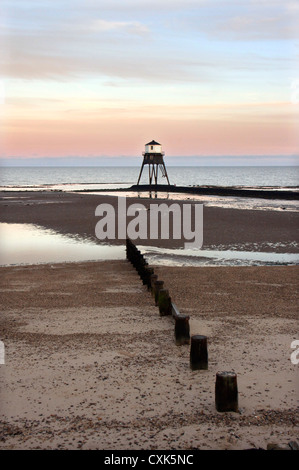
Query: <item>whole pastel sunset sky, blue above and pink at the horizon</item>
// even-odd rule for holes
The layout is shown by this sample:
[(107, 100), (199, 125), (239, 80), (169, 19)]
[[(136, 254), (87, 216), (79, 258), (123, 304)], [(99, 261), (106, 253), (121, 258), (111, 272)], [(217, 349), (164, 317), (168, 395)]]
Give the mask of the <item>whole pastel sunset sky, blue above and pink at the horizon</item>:
[[(299, 0), (1, 0), (0, 159), (299, 162)], [(125, 161), (125, 160), (124, 160)]]

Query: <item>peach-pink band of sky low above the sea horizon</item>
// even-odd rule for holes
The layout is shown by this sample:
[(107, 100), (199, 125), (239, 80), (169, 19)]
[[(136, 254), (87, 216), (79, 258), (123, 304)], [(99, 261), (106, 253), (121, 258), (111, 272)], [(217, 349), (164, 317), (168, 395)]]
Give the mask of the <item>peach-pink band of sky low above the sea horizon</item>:
[(7, 155), (138, 156), (156, 139), (167, 155), (292, 155), (299, 139), (292, 105), (201, 109), (199, 117), (134, 118), (130, 115), (84, 117), (84, 113), (55, 118), (41, 116), (6, 120)]

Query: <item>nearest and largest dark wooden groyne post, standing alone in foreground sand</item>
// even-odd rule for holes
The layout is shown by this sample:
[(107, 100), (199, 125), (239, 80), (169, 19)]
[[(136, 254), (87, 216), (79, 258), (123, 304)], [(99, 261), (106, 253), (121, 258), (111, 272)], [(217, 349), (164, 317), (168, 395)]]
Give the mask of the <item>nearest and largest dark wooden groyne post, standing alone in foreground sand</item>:
[(238, 386), (235, 372), (217, 372), (215, 404), (217, 411), (238, 411)]

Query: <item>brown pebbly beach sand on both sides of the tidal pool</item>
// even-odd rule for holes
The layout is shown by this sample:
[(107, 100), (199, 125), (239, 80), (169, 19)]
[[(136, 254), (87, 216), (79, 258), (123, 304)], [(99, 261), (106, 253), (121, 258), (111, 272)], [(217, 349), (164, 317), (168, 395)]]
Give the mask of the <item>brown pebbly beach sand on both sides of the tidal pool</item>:
[[(5, 193), (1, 222), (95, 239), (104, 201), (116, 207), (112, 196)], [(204, 212), (205, 247), (295, 252), (297, 230), (295, 212)], [(160, 316), (126, 259), (1, 267), (1, 449), (290, 449), (298, 440), (298, 266), (153, 268), (190, 316), (190, 334), (208, 337), (208, 370), (191, 370), (190, 345), (175, 344), (173, 318)], [(218, 371), (237, 374), (238, 412), (215, 408)]]

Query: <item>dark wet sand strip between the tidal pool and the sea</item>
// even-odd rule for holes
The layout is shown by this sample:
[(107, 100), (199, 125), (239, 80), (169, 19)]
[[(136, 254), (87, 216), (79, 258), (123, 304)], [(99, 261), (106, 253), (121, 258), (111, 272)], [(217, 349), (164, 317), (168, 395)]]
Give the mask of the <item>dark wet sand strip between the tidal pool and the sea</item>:
[[(120, 193), (121, 196), (121, 193)], [(186, 199), (187, 200), (187, 199)], [(146, 208), (157, 200), (130, 198)], [(95, 209), (101, 203), (117, 209), (117, 197), (63, 192), (2, 192), (1, 222), (31, 223), (59, 233), (80, 235), (97, 240), (95, 226), (99, 217)], [(171, 204), (172, 201), (161, 200)], [(183, 201), (176, 201), (183, 204)], [(129, 220), (129, 218), (128, 218)], [(149, 226), (149, 224), (148, 224)], [(116, 230), (118, 224), (116, 220)], [(258, 211), (204, 207), (203, 249), (222, 250), (246, 246), (249, 250), (299, 252), (299, 212)], [(124, 243), (111, 241), (111, 243)], [(141, 242), (140, 242), (141, 243)], [(157, 245), (155, 240), (143, 240), (142, 245)], [(159, 240), (159, 246), (182, 247), (183, 240)]]

